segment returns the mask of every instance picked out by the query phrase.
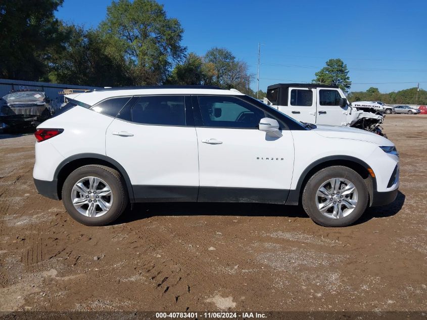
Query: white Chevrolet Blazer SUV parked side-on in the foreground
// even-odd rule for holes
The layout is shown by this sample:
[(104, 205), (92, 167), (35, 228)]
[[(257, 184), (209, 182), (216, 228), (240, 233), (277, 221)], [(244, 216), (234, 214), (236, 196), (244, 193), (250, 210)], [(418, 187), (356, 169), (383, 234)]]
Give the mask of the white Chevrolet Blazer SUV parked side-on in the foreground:
[(297, 205), (324, 226), (394, 201), (399, 157), (361, 129), (293, 120), (213, 86), (109, 88), (67, 97), (37, 127), (34, 183), (86, 225), (135, 202)]

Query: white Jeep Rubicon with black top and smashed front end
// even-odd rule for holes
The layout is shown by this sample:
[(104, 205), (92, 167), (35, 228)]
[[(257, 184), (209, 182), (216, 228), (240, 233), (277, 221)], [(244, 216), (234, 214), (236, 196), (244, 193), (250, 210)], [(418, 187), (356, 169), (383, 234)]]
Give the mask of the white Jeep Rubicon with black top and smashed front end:
[(353, 106), (336, 85), (277, 83), (267, 87), (264, 103), (301, 122), (350, 126), (384, 136), (385, 109)]

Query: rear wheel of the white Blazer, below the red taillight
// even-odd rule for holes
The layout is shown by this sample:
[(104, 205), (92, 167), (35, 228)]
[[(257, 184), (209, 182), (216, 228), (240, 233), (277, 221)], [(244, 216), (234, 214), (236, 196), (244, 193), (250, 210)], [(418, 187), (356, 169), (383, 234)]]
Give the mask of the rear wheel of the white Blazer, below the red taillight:
[(70, 216), (92, 226), (116, 220), (129, 199), (123, 177), (117, 170), (102, 165), (85, 165), (66, 178), (62, 200)]

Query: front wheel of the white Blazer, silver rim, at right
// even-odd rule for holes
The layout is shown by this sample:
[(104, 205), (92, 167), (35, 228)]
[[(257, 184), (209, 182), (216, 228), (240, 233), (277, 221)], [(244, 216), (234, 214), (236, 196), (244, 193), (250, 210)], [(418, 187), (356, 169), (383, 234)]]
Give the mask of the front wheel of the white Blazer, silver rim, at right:
[(302, 195), (302, 205), (310, 218), (323, 226), (347, 226), (354, 223), (368, 204), (363, 178), (344, 166), (331, 166), (316, 172)]

